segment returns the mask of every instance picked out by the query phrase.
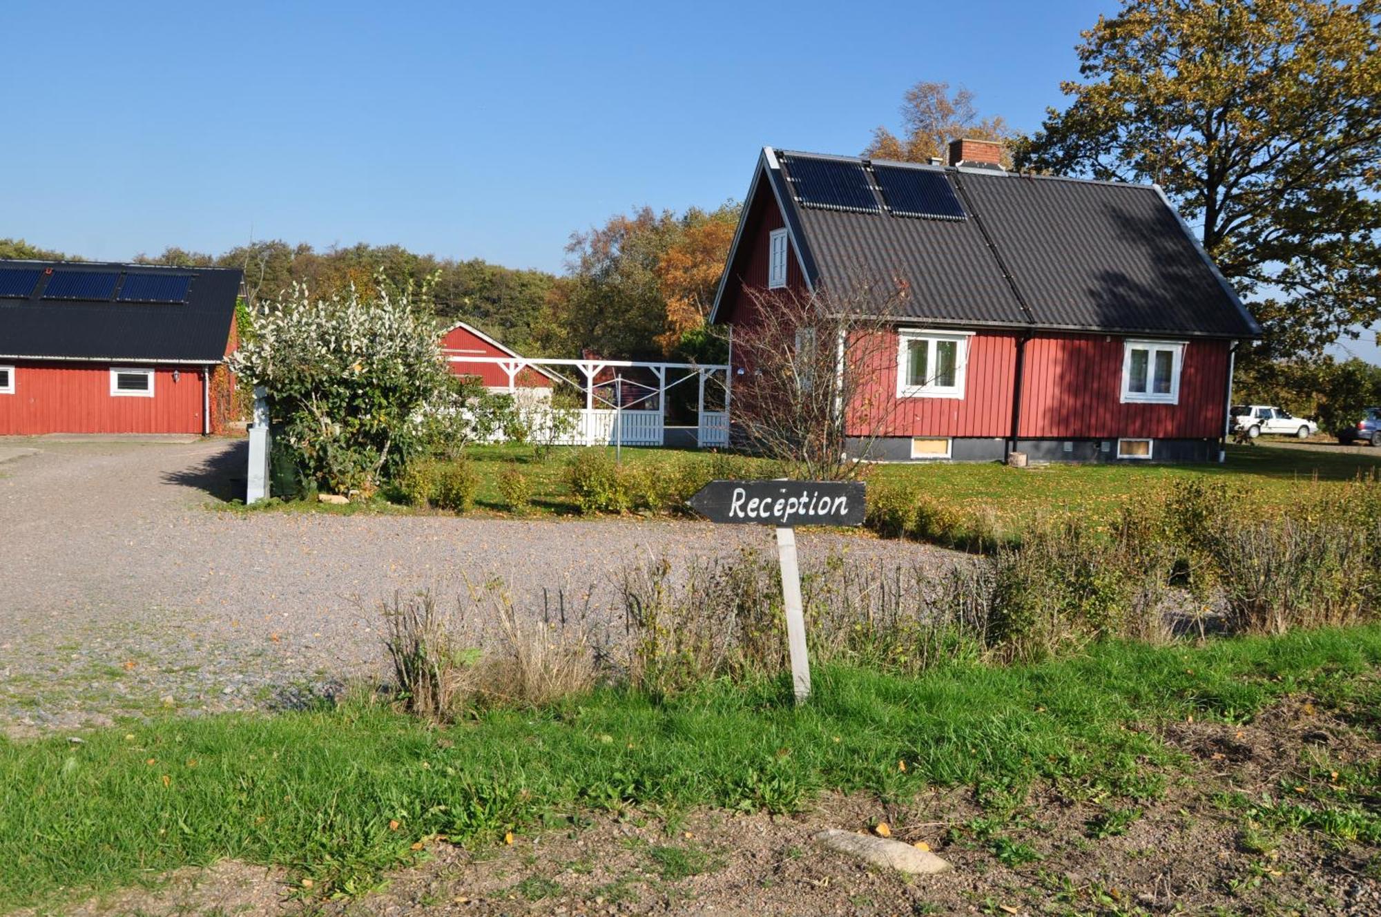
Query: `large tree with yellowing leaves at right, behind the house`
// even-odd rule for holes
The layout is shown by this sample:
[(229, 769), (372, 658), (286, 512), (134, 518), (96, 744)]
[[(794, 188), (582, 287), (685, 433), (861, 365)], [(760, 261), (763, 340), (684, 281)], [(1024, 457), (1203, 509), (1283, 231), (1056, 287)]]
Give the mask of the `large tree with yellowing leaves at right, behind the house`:
[(1381, 318), (1377, 0), (1124, 0), (1022, 168), (1159, 184), (1266, 329), (1317, 355)]

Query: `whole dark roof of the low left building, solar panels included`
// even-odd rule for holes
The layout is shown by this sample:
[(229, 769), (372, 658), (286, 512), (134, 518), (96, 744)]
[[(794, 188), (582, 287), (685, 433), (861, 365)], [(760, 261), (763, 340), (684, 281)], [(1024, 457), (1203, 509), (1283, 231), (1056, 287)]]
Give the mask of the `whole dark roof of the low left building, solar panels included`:
[(0, 358), (215, 363), (240, 271), (0, 260)]

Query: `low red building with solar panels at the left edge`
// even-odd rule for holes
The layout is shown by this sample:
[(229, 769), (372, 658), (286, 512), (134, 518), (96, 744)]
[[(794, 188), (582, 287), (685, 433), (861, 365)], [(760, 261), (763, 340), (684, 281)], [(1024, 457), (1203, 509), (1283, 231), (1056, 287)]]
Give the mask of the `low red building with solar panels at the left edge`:
[(0, 261), (0, 435), (213, 434), (240, 272)]

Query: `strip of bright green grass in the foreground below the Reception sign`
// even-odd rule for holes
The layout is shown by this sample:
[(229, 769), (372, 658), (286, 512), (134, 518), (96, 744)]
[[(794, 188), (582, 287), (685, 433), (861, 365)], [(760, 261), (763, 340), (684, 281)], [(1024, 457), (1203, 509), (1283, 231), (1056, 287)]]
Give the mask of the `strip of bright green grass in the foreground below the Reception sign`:
[[(787, 812), (824, 790), (888, 801), (972, 786), (1001, 813), (1055, 782), (1126, 807), (1156, 798), (1177, 764), (1148, 726), (1244, 722), (1298, 691), (1374, 706), (1378, 666), (1371, 626), (1199, 648), (1106, 644), (1040, 666), (917, 677), (823, 668), (798, 710), (784, 684), (749, 681), (660, 703), (603, 689), (439, 729), (358, 702), (168, 717), (79, 744), (0, 739), (0, 910), (221, 858), (287, 866), (315, 894), (358, 894), (416, 858), (423, 838), (485, 845), (628, 805)], [(1381, 837), (1374, 812), (1363, 822)]]

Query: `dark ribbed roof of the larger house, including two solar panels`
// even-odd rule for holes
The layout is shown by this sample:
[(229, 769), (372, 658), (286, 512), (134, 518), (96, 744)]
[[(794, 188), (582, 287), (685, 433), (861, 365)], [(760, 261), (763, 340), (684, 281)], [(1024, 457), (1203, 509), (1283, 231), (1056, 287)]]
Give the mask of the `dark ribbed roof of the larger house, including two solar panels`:
[[(1261, 333), (1155, 185), (772, 148), (754, 188), (760, 180), (812, 289), (842, 291), (860, 309), (935, 325)], [(902, 184), (924, 193), (902, 202), (892, 191)], [(740, 269), (735, 255), (725, 279)]]

